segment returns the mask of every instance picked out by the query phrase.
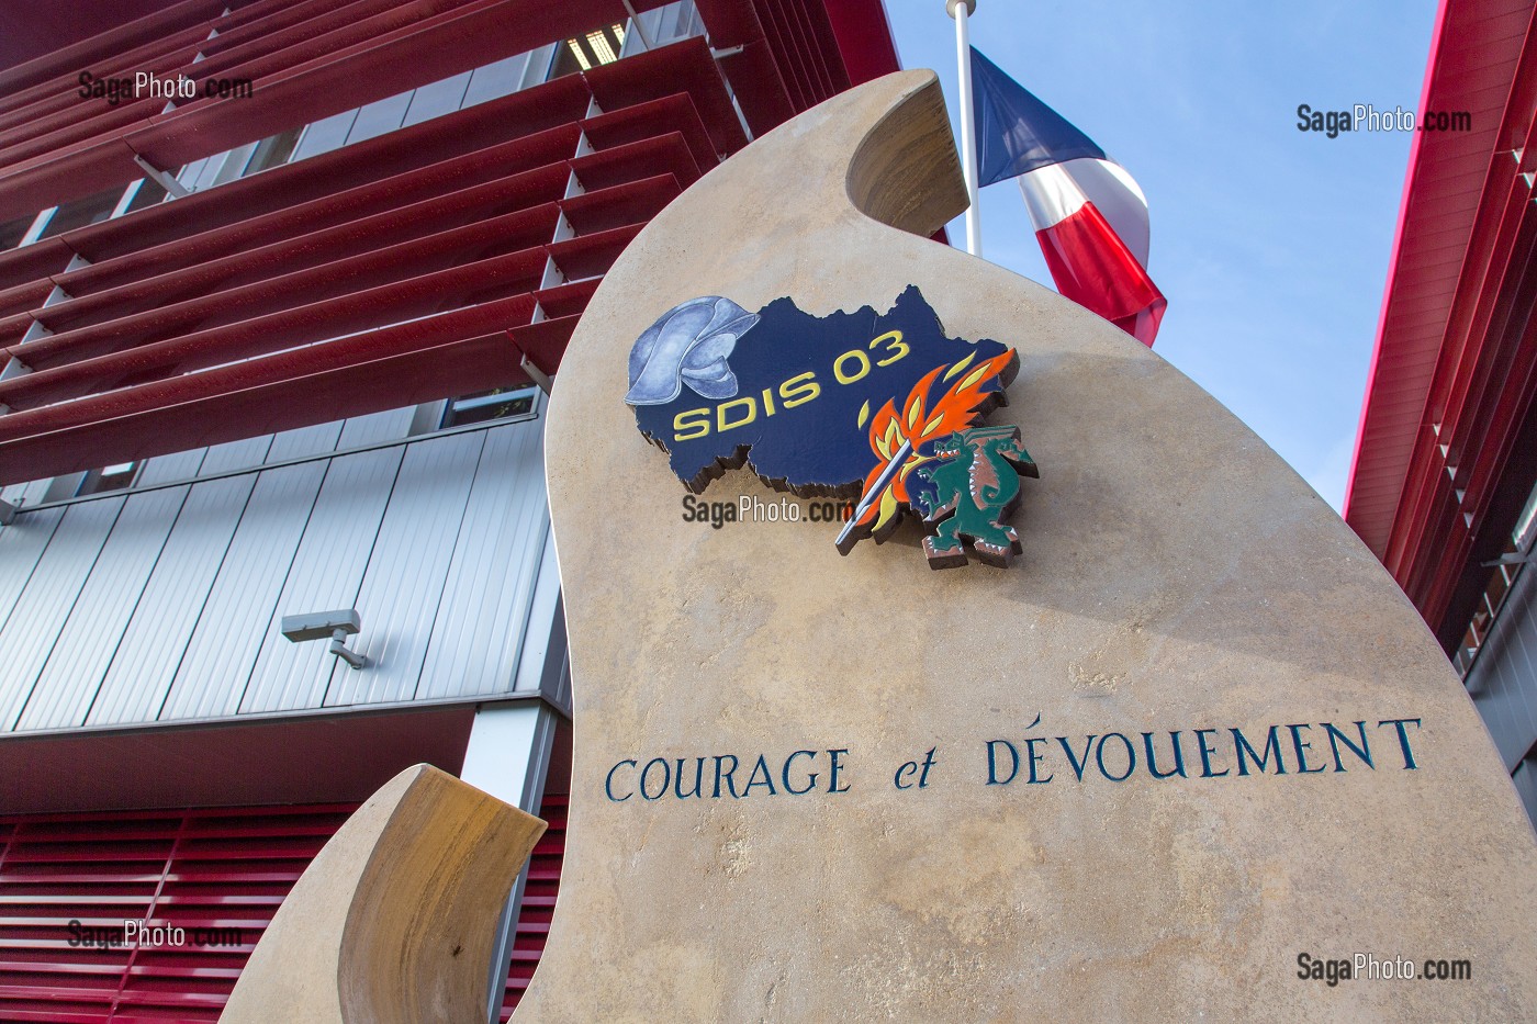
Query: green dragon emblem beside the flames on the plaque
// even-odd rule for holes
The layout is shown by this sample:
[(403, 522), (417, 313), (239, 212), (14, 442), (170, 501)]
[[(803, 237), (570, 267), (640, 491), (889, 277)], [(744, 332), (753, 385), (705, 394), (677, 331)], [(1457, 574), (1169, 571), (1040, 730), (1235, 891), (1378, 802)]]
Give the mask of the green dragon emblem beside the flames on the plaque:
[(938, 523), (924, 538), (930, 569), (967, 564), (965, 541), (990, 566), (1008, 566), (1024, 547), (1019, 534), (1004, 520), (1019, 506), (1019, 477), (1041, 477), (1036, 463), (1019, 443), (1017, 426), (956, 431), (936, 449), (938, 463), (916, 467), (933, 484), (913, 489), (913, 503), (925, 523)]

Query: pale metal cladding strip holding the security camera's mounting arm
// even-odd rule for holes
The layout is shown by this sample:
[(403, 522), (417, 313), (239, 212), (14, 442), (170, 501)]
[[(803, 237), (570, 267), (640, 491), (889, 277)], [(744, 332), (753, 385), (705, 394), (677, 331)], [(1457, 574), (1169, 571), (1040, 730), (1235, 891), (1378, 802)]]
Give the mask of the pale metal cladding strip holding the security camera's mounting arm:
[(326, 704), (409, 701), (415, 693), (484, 443), (486, 432), (475, 431), (406, 449), (355, 606), (363, 632), (352, 646), (369, 664), (338, 669)]

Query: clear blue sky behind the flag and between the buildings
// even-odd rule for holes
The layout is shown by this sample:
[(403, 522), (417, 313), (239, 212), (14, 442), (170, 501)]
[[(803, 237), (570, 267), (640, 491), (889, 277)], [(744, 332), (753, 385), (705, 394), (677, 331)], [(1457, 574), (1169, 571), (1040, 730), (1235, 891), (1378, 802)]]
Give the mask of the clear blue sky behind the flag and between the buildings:
[[(885, 0), (904, 68), (939, 72), (944, 0)], [(1408, 132), (1297, 131), (1297, 105), (1419, 106), (1432, 0), (1286, 5), (978, 0), (971, 42), (1142, 186), (1154, 351), (1336, 509), (1393, 252)], [(982, 254), (1050, 286), (1013, 181), (982, 191)], [(964, 244), (962, 221), (950, 237)]]

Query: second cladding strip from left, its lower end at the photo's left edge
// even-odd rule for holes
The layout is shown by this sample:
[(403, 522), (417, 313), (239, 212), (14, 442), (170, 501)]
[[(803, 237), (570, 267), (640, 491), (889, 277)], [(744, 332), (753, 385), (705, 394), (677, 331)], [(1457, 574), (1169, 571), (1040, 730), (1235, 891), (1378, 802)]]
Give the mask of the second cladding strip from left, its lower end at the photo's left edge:
[[(0, 629), (0, 730), (15, 729), (54, 640), (101, 554), (123, 498), (71, 506)], [(0, 534), (11, 527), (0, 527)]]

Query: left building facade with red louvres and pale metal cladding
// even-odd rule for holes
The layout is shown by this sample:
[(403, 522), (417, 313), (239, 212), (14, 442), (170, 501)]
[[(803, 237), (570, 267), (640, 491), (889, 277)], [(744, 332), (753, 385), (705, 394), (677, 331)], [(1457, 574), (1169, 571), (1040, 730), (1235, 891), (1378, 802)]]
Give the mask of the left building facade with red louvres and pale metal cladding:
[[(570, 760), (546, 392), (652, 215), (898, 68), (881, 0), (74, 22), (0, 71), (0, 1018), (215, 1019), (420, 761), (552, 821), (506, 1018)], [(284, 635), (321, 612), (363, 667)]]

